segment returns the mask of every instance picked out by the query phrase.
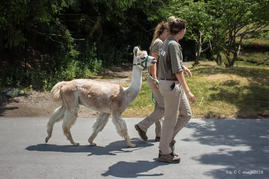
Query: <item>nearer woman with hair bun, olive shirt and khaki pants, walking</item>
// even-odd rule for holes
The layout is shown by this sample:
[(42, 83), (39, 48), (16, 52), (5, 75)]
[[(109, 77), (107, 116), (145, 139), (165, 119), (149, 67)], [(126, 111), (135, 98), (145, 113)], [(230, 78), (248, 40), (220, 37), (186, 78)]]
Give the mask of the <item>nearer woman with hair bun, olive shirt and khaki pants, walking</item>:
[[(171, 16), (168, 25), (170, 36), (163, 42), (158, 60), (159, 88), (165, 108), (158, 161), (179, 163), (180, 157), (175, 152), (174, 138), (189, 122), (192, 115), (189, 101), (194, 103), (195, 98), (184, 78), (181, 46), (178, 43), (185, 35), (187, 22)], [(178, 111), (180, 114), (177, 117)]]

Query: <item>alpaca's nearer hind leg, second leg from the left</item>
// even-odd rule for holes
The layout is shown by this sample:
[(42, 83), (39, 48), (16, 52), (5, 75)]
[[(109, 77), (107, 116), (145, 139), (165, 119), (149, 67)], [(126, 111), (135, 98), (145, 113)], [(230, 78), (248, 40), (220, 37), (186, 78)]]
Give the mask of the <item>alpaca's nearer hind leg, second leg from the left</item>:
[(70, 141), (70, 143), (73, 144), (73, 146), (78, 146), (80, 145), (79, 143), (75, 143), (73, 138), (72, 138), (72, 135), (71, 135), (71, 132), (70, 132), (70, 129), (71, 127), (75, 124), (75, 122), (77, 121), (77, 117), (78, 117), (78, 109), (74, 109), (72, 111), (70, 110), (67, 110), (65, 112), (65, 117), (63, 119), (63, 123), (62, 123), (62, 130), (64, 132), (64, 135), (66, 136), (67, 140)]

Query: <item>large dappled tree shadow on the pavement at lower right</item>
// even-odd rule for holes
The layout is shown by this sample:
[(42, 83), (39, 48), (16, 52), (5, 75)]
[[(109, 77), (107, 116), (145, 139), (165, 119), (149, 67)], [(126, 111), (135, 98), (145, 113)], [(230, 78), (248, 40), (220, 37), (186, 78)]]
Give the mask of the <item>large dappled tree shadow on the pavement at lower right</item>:
[[(205, 175), (215, 179), (255, 178), (269, 176), (269, 120), (203, 120), (185, 127), (194, 132), (183, 141), (197, 141), (218, 148), (217, 152), (192, 157), (202, 164), (215, 167)], [(206, 147), (205, 146), (205, 147)], [(259, 174), (227, 174), (226, 171), (258, 171)], [(254, 176), (253, 176), (254, 175)]]

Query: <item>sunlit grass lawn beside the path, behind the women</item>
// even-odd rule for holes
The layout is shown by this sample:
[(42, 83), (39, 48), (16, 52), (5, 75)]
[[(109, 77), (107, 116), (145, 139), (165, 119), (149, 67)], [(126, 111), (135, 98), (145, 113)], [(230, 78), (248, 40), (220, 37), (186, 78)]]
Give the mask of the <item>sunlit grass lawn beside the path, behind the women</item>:
[[(196, 99), (190, 104), (192, 118), (269, 117), (268, 66), (227, 69), (201, 62), (198, 67), (188, 68), (192, 78), (185, 76), (185, 79)], [(122, 117), (146, 117), (153, 109), (151, 90), (143, 81), (139, 95)]]

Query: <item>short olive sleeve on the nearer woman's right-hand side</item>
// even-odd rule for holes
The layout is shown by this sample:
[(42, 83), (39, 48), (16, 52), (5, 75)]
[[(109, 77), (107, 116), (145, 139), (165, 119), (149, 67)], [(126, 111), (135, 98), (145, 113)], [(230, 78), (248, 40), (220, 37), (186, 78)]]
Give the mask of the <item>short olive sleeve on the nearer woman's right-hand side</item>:
[(169, 53), (171, 58), (171, 66), (172, 73), (181, 72), (182, 64), (181, 64), (181, 50), (179, 49), (179, 45), (177, 43), (169, 44)]

